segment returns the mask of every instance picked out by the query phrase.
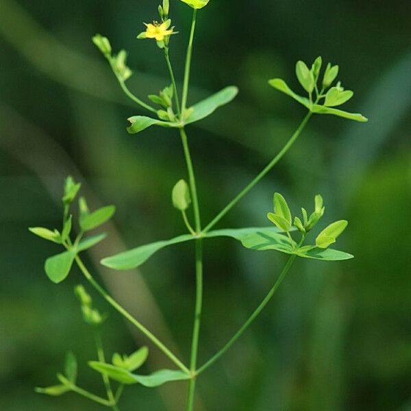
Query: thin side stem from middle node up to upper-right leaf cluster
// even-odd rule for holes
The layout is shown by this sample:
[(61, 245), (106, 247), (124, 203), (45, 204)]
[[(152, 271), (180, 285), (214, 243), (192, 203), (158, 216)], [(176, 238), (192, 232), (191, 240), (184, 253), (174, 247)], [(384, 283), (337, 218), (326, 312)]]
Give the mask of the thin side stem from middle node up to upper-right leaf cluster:
[(250, 184), (248, 184), (240, 192), (240, 194), (238, 194), (234, 198), (234, 200), (232, 200), (227, 206), (225, 206), (225, 208), (223, 208), (221, 212), (219, 212), (219, 214), (217, 214), (216, 217), (214, 217), (214, 219), (206, 226), (206, 228), (203, 229), (203, 233), (209, 232), (210, 229), (212, 229), (212, 227), (214, 227), (214, 225), (216, 225), (216, 223), (218, 223), (223, 218), (223, 216), (225, 216), (225, 214), (227, 214), (227, 212), (229, 212), (229, 210), (231, 210), (236, 205), (236, 203), (238, 203), (238, 201), (240, 201), (240, 199), (242, 199), (242, 197), (244, 197), (251, 190), (251, 188), (256, 186), (256, 184), (258, 184), (258, 182), (260, 182), (260, 180), (263, 177), (265, 177), (269, 173), (269, 171), (271, 171), (271, 169), (273, 169), (273, 166), (275, 166), (275, 164), (277, 164), (277, 162), (279, 162), (279, 160), (281, 160), (284, 157), (284, 155), (287, 153), (290, 147), (295, 143), (295, 140), (297, 140), (297, 138), (303, 131), (304, 127), (306, 127), (311, 116), (312, 116), (312, 112), (309, 112), (306, 115), (306, 117), (304, 117), (303, 121), (301, 122), (301, 124), (299, 125), (295, 133), (292, 134), (292, 136), (290, 137), (290, 140), (288, 140), (286, 145), (284, 145), (282, 150), (279, 151), (279, 153), (275, 156), (275, 158), (273, 158), (273, 160), (271, 160), (271, 162), (267, 164), (267, 166), (261, 171), (261, 173), (258, 174), (257, 177), (254, 178), (253, 181)]

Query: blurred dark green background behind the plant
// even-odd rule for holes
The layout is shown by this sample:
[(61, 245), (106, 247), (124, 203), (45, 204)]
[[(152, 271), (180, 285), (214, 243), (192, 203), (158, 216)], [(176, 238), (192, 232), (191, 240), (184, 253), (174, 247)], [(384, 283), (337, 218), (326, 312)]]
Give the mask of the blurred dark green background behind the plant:
[[(92, 45), (96, 32), (129, 50), (129, 86), (145, 98), (168, 84), (160, 52), (137, 41), (153, 0), (0, 0), (0, 410), (101, 410), (73, 394), (53, 399), (64, 353), (82, 362), (82, 386), (103, 394), (93, 336), (82, 323), (74, 270), (60, 286), (42, 265), (58, 247), (28, 226), (59, 227), (62, 181), (84, 183), (92, 206), (114, 203), (108, 240), (86, 256), (105, 286), (187, 359), (194, 275), (192, 245), (163, 251), (140, 271), (118, 273), (103, 256), (184, 231), (170, 192), (185, 177), (173, 130), (130, 136), (140, 113), (121, 94)], [(190, 10), (172, 0), (179, 31), (171, 58), (181, 79)], [(317, 55), (340, 64), (356, 91), (347, 110), (366, 124), (316, 116), (275, 171), (219, 227), (266, 225), (278, 190), (297, 212), (325, 197), (327, 219), (347, 218), (339, 248), (349, 262), (299, 261), (269, 308), (199, 382), (198, 411), (411, 410), (411, 3), (405, 0), (212, 0), (199, 14), (190, 102), (236, 84), (240, 95), (190, 126), (203, 221), (210, 220), (284, 145), (303, 118), (297, 103), (266, 84), (297, 89), (294, 64)], [(202, 363), (225, 343), (284, 258), (230, 240), (206, 243)], [(91, 291), (91, 290), (90, 290)], [(105, 349), (147, 343), (109, 312)], [(151, 347), (145, 371), (171, 364)], [(121, 410), (181, 411), (186, 384), (125, 392)]]

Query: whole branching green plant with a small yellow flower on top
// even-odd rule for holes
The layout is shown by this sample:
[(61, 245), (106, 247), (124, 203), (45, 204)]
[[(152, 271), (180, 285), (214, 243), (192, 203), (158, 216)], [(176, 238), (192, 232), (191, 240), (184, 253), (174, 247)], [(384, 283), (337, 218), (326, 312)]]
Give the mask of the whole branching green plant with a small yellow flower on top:
[[(361, 114), (353, 114), (343, 110), (336, 109), (336, 106), (342, 105), (351, 97), (353, 92), (344, 90), (340, 82), (333, 84), (338, 77), (338, 66), (327, 64), (323, 75), (321, 69), (323, 67), (323, 60), (321, 57), (316, 58), (311, 67), (308, 67), (304, 62), (297, 62), (296, 75), (299, 83), (306, 91), (306, 96), (301, 96), (292, 91), (286, 82), (282, 79), (271, 79), (269, 84), (279, 91), (284, 92), (308, 109), (308, 113), (297, 130), (281, 151), (267, 164), (264, 169), (232, 200), (230, 201), (219, 214), (217, 214), (212, 221), (203, 225), (201, 223), (201, 214), (199, 207), (199, 199), (197, 196), (197, 186), (195, 180), (195, 173), (190, 149), (188, 146), (188, 136), (186, 134), (186, 126), (200, 121), (201, 119), (210, 116), (221, 105), (225, 105), (232, 101), (238, 93), (238, 89), (234, 86), (228, 86), (216, 94), (208, 97), (199, 103), (188, 106), (188, 91), (190, 84), (190, 64), (192, 58), (192, 47), (195, 38), (195, 26), (197, 21), (197, 10), (205, 7), (208, 0), (179, 0), (189, 5), (192, 9), (192, 23), (190, 29), (190, 36), (188, 42), (188, 49), (186, 54), (186, 64), (184, 70), (183, 88), (180, 94), (177, 89), (173, 66), (170, 59), (170, 47), (173, 35), (177, 34), (175, 27), (172, 25), (170, 13), (169, 0), (163, 0), (158, 8), (160, 21), (153, 21), (153, 23), (145, 24), (145, 31), (138, 34), (139, 39), (155, 40), (158, 48), (164, 53), (166, 66), (170, 75), (170, 85), (166, 85), (159, 94), (149, 95), (151, 103), (145, 103), (140, 98), (136, 97), (127, 87), (127, 79), (132, 76), (132, 70), (127, 66), (127, 52), (125, 50), (114, 54), (110, 41), (97, 34), (92, 40), (99, 48), (104, 57), (108, 60), (114, 75), (119, 81), (119, 84), (125, 95), (132, 99), (141, 108), (151, 113), (151, 116), (132, 116), (129, 118), (129, 127), (127, 131), (130, 134), (142, 132), (151, 126), (170, 127), (176, 129), (181, 140), (184, 150), (184, 158), (187, 166), (188, 183), (181, 179), (172, 190), (173, 206), (182, 213), (182, 219), (187, 227), (188, 234), (182, 234), (170, 240), (162, 240), (152, 242), (148, 245), (142, 245), (125, 251), (116, 256), (111, 256), (101, 260), (101, 264), (114, 270), (134, 269), (145, 261), (147, 261), (154, 253), (160, 251), (164, 247), (168, 247), (179, 242), (195, 242), (195, 276), (196, 276), (196, 303), (194, 312), (194, 325), (192, 331), (192, 344), (190, 353), (190, 362), (186, 364), (182, 359), (177, 358), (175, 353), (171, 351), (157, 336), (142, 325), (138, 319), (129, 314), (116, 300), (114, 300), (108, 292), (99, 285), (99, 283), (92, 276), (90, 271), (86, 268), (80, 253), (86, 251), (90, 247), (97, 245), (105, 238), (105, 234), (95, 234), (92, 236), (86, 235), (90, 230), (93, 230), (108, 221), (114, 214), (114, 206), (107, 206), (90, 212), (88, 209), (86, 199), (80, 197), (78, 201), (78, 216), (76, 221), (77, 236), (73, 239), (73, 214), (72, 207), (75, 198), (80, 189), (80, 184), (76, 183), (72, 177), (68, 177), (64, 186), (64, 195), (62, 197), (63, 215), (62, 228), (49, 230), (43, 227), (30, 228), (37, 236), (55, 242), (62, 247), (64, 251), (56, 256), (48, 258), (45, 262), (45, 271), (52, 282), (58, 284), (62, 282), (69, 275), (73, 263), (77, 264), (79, 270), (88, 280), (90, 285), (94, 287), (99, 294), (107, 301), (112, 308), (122, 314), (130, 323), (132, 323), (142, 334), (144, 334), (155, 347), (160, 349), (166, 357), (169, 358), (174, 369), (163, 369), (156, 371), (150, 375), (141, 375), (136, 373), (142, 364), (144, 364), (149, 351), (147, 347), (142, 347), (131, 355), (120, 355), (114, 353), (112, 361), (108, 362), (105, 359), (105, 353), (101, 343), (100, 329), (103, 325), (105, 316), (100, 314), (97, 310), (92, 308), (92, 299), (84, 286), (77, 286), (75, 288), (75, 295), (79, 299), (82, 307), (82, 314), (84, 321), (95, 329), (96, 347), (97, 347), (97, 361), (90, 361), (88, 365), (101, 374), (103, 384), (107, 393), (107, 397), (99, 397), (95, 394), (84, 390), (77, 386), (77, 361), (73, 353), (69, 353), (66, 358), (66, 366), (64, 373), (58, 374), (60, 384), (50, 386), (47, 388), (37, 388), (39, 393), (48, 395), (62, 395), (69, 391), (73, 391), (79, 395), (87, 397), (88, 399), (100, 403), (102, 406), (112, 408), (112, 410), (119, 410), (119, 400), (123, 393), (123, 387), (126, 385), (141, 384), (146, 387), (156, 387), (171, 381), (188, 382), (188, 397), (186, 410), (194, 410), (194, 398), (196, 381), (199, 375), (202, 375), (216, 360), (231, 347), (238, 338), (245, 332), (245, 330), (256, 319), (258, 314), (266, 306), (273, 297), (275, 291), (284, 280), (284, 277), (290, 270), (292, 262), (295, 258), (309, 258), (315, 260), (347, 260), (352, 258), (348, 253), (330, 249), (329, 245), (336, 242), (336, 239), (343, 233), (347, 227), (347, 221), (336, 221), (323, 228), (318, 236), (316, 236), (314, 244), (306, 242), (310, 231), (319, 223), (321, 217), (325, 212), (323, 206), (323, 198), (321, 195), (316, 195), (314, 199), (314, 210), (309, 215), (305, 208), (301, 208), (301, 216), (294, 216), (288, 207), (286, 199), (279, 194), (274, 194), (273, 211), (267, 214), (267, 217), (273, 225), (268, 227), (248, 227), (237, 229), (217, 229), (214, 226), (223, 219), (223, 217), (230, 211), (242, 197), (260, 182), (260, 180), (267, 174), (273, 166), (281, 160), (290, 147), (294, 144), (300, 136), (304, 127), (306, 127), (310, 117), (313, 114), (332, 114), (340, 116), (345, 119), (354, 121), (367, 121)], [(153, 106), (154, 105), (154, 106)], [(187, 214), (188, 209), (192, 206), (193, 223), (190, 222), (190, 217)], [(202, 298), (203, 298), (203, 241), (208, 238), (225, 236), (238, 240), (243, 247), (256, 251), (275, 250), (288, 254), (288, 260), (284, 269), (279, 274), (273, 287), (269, 290), (266, 297), (262, 300), (256, 310), (249, 316), (238, 332), (221, 348), (220, 351), (214, 354), (212, 358), (198, 365), (197, 353), (199, 349), (199, 336), (202, 314)], [(113, 386), (116, 384), (116, 389)]]

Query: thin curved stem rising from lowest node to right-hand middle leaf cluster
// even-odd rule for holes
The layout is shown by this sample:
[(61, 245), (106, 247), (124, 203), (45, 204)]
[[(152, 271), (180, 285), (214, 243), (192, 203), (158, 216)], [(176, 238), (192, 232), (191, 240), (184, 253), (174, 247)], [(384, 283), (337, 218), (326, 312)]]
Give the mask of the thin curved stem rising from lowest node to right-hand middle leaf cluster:
[(280, 286), (280, 284), (282, 284), (284, 278), (286, 277), (286, 274), (288, 273), (288, 271), (290, 270), (291, 266), (292, 266), (292, 262), (294, 262), (296, 256), (292, 255), (290, 256), (290, 258), (288, 259), (286, 265), (284, 266), (284, 269), (282, 271), (282, 273), (279, 275), (277, 281), (275, 282), (275, 284), (273, 285), (273, 288), (271, 288), (271, 290), (269, 291), (269, 293), (266, 295), (266, 297), (262, 300), (262, 302), (260, 303), (260, 306), (258, 306), (258, 308), (253, 312), (253, 314), (251, 314), (251, 316), (249, 317), (249, 319), (245, 322), (244, 325), (242, 325), (242, 327), (238, 330), (238, 332), (236, 332), (236, 334), (234, 334), (234, 336), (231, 338), (231, 340), (229, 340), (229, 342), (218, 352), (216, 353), (212, 358), (210, 358), (210, 360), (208, 360), (208, 362), (206, 362), (206, 364), (204, 364), (203, 366), (201, 366), (198, 370), (196, 375), (199, 375), (201, 373), (203, 373), (203, 371), (206, 371), (206, 369), (208, 369), (209, 366), (211, 366), (212, 364), (214, 364), (214, 362), (216, 362), (216, 360), (219, 360), (219, 358), (221, 358), (221, 356), (223, 356), (223, 354), (228, 351), (228, 349), (230, 347), (232, 347), (232, 345), (234, 343), (236, 343), (236, 341), (238, 340), (238, 338), (240, 338), (240, 336), (242, 336), (242, 334), (245, 332), (245, 330), (251, 325), (251, 323), (257, 318), (258, 314), (260, 314), (260, 312), (262, 312), (262, 310), (264, 309), (264, 307), (269, 303), (269, 301), (271, 300), (271, 298), (273, 297), (273, 295), (275, 294), (275, 291), (277, 291), (278, 287)]

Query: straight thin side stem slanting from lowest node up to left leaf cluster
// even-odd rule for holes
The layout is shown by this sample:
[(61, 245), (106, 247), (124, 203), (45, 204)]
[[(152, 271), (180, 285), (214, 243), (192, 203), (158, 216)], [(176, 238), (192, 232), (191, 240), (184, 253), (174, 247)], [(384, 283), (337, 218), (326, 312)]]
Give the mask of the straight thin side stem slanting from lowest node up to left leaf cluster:
[(171, 361), (174, 362), (175, 365), (179, 367), (185, 373), (189, 373), (190, 371), (188, 368), (167, 348), (153, 333), (149, 331), (144, 325), (142, 325), (138, 320), (132, 316), (125, 308), (123, 308), (116, 300), (114, 300), (108, 292), (104, 290), (103, 287), (97, 283), (97, 281), (92, 277), (90, 271), (86, 269), (86, 266), (83, 264), (81, 258), (79, 256), (75, 257), (75, 261), (77, 262), (77, 266), (79, 266), (80, 271), (84, 274), (84, 277), (90, 282), (90, 284), (99, 292), (99, 294), (107, 301), (115, 310), (117, 310), (121, 315), (123, 315), (130, 323), (132, 323), (136, 328), (142, 332), (151, 342), (158, 347), (167, 357), (170, 358)]

